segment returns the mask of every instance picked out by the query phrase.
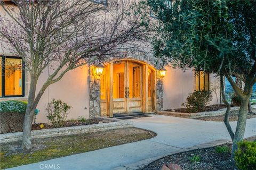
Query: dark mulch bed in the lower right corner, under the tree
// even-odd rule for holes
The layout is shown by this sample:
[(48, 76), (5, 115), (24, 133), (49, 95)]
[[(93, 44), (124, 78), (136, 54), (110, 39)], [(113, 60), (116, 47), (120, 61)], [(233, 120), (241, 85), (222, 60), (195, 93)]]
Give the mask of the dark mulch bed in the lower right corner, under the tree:
[[(256, 141), (256, 136), (247, 140)], [(232, 170), (237, 169), (234, 160), (230, 159), (230, 144), (225, 144), (213, 148), (198, 149), (181, 152), (166, 156), (150, 163), (143, 169), (159, 170), (163, 164), (178, 164), (183, 170)]]

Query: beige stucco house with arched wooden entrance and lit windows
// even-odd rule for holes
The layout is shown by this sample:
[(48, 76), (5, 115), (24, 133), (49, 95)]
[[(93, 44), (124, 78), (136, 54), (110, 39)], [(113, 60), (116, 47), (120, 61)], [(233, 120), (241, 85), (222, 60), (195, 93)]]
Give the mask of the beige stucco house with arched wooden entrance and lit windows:
[[(3, 42), (0, 55), (0, 100), (27, 100), (30, 77), (24, 70), (22, 58), (11, 53)], [(153, 59), (152, 54), (130, 52), (118, 60), (113, 58), (100, 65), (84, 65), (67, 72), (44, 92), (37, 106), (40, 111), (37, 122), (47, 122), (45, 106), (53, 98), (72, 106), (69, 119), (113, 117), (181, 108), (190, 92), (219, 86), (219, 79), (213, 74), (162, 68)], [(38, 88), (50, 72), (49, 68), (43, 71)], [(217, 98), (220, 101), (219, 90)], [(217, 98), (213, 97), (211, 104), (217, 104)]]

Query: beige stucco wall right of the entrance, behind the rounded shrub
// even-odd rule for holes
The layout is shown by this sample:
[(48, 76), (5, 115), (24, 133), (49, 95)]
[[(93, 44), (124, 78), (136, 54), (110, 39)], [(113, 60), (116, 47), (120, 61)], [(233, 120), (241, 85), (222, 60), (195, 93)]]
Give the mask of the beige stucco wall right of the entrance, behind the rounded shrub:
[[(196, 89), (195, 77), (193, 69), (173, 69), (172, 67), (165, 67), (167, 70), (163, 78), (164, 92), (163, 92), (163, 110), (173, 108), (183, 108), (182, 103), (185, 103), (186, 98), (190, 92)], [(213, 86), (220, 87), (220, 80), (214, 74), (210, 74), (210, 89)], [(220, 88), (219, 88), (220, 89)], [(217, 96), (220, 103), (220, 90), (217, 90)], [(213, 92), (213, 98), (209, 105), (217, 104), (217, 98)]]

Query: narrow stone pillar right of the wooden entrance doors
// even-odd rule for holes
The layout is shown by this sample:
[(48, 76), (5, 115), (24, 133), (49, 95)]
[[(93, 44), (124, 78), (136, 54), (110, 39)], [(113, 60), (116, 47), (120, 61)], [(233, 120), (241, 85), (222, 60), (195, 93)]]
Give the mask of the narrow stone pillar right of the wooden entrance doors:
[(163, 111), (163, 79), (156, 80), (156, 111)]

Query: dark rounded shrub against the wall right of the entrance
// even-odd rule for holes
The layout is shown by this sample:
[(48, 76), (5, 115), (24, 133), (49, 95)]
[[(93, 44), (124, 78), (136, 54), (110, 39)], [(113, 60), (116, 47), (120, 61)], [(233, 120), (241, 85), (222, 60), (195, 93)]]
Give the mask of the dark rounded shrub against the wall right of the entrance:
[(186, 107), (188, 113), (203, 111), (204, 107), (212, 100), (211, 91), (194, 91), (187, 97), (182, 106)]

